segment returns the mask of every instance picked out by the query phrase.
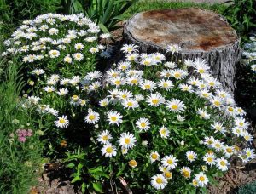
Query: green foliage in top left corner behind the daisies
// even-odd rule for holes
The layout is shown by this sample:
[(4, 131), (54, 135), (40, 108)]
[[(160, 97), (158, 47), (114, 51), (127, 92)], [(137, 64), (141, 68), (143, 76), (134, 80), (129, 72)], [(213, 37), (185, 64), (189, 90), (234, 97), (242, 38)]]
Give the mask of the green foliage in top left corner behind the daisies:
[(30, 20), (38, 14), (54, 13), (61, 7), (61, 0), (1, 0), (0, 21), (4, 32), (13, 31), (22, 20)]

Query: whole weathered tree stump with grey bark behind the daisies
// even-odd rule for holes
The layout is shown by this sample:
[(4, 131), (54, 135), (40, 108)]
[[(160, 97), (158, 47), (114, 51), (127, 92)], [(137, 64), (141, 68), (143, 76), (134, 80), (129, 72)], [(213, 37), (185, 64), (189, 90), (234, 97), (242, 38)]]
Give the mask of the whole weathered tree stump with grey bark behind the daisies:
[(143, 53), (166, 53), (169, 44), (182, 50), (172, 59), (207, 60), (212, 76), (234, 92), (236, 63), (241, 58), (240, 38), (219, 14), (204, 9), (160, 9), (134, 15), (124, 27), (125, 43), (135, 43)]

